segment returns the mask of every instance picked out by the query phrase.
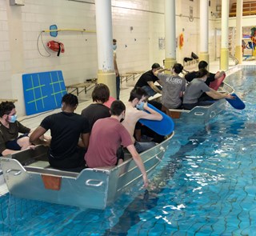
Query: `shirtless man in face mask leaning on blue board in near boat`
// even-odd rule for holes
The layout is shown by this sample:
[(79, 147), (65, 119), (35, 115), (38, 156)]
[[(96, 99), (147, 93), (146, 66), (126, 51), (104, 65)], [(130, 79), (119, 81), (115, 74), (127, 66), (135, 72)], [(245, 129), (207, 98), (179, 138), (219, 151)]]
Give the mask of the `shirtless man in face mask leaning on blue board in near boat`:
[(156, 121), (162, 120), (162, 114), (151, 109), (147, 106), (147, 102), (144, 102), (146, 96), (146, 91), (140, 87), (131, 90), (129, 101), (126, 104), (126, 118), (122, 122), (122, 125), (126, 127), (126, 130), (128, 130), (138, 153), (155, 146), (154, 142), (135, 142), (134, 130), (138, 120), (141, 118)]

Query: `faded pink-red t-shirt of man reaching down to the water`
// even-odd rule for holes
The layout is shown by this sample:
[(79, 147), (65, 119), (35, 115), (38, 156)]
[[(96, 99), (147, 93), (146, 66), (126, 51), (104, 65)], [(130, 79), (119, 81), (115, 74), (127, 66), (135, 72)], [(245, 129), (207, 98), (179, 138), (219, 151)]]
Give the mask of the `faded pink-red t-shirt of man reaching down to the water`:
[(90, 168), (115, 166), (117, 150), (133, 144), (129, 132), (115, 118), (102, 118), (94, 123), (90, 133), (89, 147), (85, 155)]

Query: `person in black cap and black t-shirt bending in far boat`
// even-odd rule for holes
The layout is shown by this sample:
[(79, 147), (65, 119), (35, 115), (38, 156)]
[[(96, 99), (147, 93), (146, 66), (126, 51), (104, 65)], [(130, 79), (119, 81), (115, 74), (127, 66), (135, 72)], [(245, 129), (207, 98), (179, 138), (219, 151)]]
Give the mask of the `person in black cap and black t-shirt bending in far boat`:
[(146, 91), (146, 94), (149, 96), (154, 96), (154, 94), (162, 94), (161, 86), (156, 86), (154, 82), (161, 83), (159, 79), (154, 75), (156, 70), (161, 69), (161, 66), (158, 63), (154, 63), (151, 66), (151, 70), (146, 71), (142, 76), (138, 79), (138, 82), (135, 84), (136, 87), (141, 87)]

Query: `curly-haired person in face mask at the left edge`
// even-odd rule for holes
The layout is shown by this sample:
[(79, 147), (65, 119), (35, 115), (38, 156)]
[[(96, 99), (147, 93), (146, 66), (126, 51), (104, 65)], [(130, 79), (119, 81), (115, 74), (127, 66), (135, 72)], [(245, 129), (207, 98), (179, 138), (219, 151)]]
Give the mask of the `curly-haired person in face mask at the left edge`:
[[(17, 112), (13, 102), (0, 104), (0, 154), (14, 154), (18, 150), (34, 149), (31, 145), (30, 128), (17, 121)], [(18, 133), (22, 135), (18, 136)]]

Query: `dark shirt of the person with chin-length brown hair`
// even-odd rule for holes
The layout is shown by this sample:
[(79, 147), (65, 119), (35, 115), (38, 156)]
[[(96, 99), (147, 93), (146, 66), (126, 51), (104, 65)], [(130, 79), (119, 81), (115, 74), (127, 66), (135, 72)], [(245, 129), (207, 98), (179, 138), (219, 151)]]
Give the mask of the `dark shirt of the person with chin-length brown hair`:
[(98, 119), (110, 117), (110, 108), (101, 103), (93, 103), (82, 110), (82, 117), (87, 118), (91, 130)]

